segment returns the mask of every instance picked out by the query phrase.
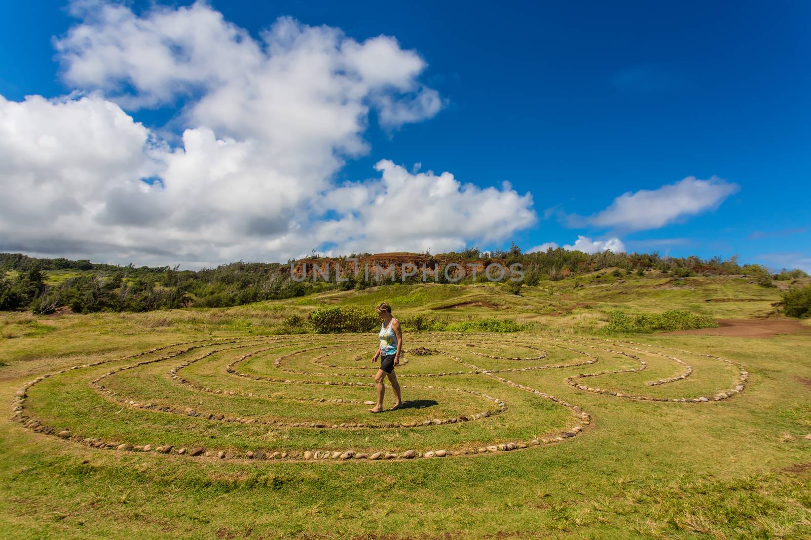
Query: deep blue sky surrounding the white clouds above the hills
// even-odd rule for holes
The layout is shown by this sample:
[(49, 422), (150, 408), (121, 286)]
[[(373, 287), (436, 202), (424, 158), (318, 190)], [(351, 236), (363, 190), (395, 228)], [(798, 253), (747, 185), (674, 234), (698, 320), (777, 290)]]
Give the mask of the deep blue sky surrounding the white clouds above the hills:
[[(189, 4), (175, 2), (164, 9)], [(148, 18), (152, 9), (145, 2), (128, 6), (135, 18)], [(156, 98), (159, 103), (133, 105), (122, 96), (138, 97), (149, 91), (157, 95), (156, 87), (138, 87), (132, 79), (119, 76), (114, 66), (106, 66), (102, 74), (92, 77), (66, 77), (73, 61), (58, 52), (54, 38), (64, 40), (70, 28), (92, 24), (93, 9), (83, 13), (81, 6), (74, 6), (71, 13), (65, 2), (6, 2), (0, 8), (0, 95), (9, 102), (22, 102), (29, 95), (53, 100), (75, 92), (73, 99), (79, 99), (101, 92), (104, 100), (121, 105), (150, 134), (160, 135), (168, 151), (182, 147), (182, 130), (203, 126), (200, 114), (194, 120), (186, 114), (190, 104), (200, 100), (198, 87), (191, 85), (187, 91)], [(339, 147), (332, 152), (341, 164), (319, 168), (328, 187), (315, 184), (315, 189), (323, 191), (326, 202), (296, 199), (290, 205), (297, 210), (290, 214), (281, 206), (267, 210), (257, 206), (258, 217), (251, 217), (248, 232), (217, 237), (208, 255), (202, 248), (187, 252), (175, 244), (161, 243), (161, 231), (165, 231), (165, 236), (178, 242), (199, 244), (200, 236), (189, 231), (203, 231), (200, 223), (189, 226), (182, 216), (157, 210), (144, 215), (142, 210), (122, 206), (122, 200), (127, 205), (160, 206), (149, 198), (158, 197), (152, 194), (144, 195), (143, 201), (140, 195), (120, 199), (110, 195), (97, 206), (85, 204), (76, 195), (77, 204), (84, 208), (77, 212), (96, 212), (86, 219), (105, 223), (105, 231), (114, 229), (116, 233), (110, 236), (102, 238), (95, 226), (85, 227), (84, 222), (76, 226), (84, 231), (82, 237), (45, 231), (34, 224), (17, 235), (8, 226), (0, 229), (0, 244), (4, 244), (0, 248), (124, 263), (171, 258), (165, 262), (178, 261), (184, 266), (215, 264), (229, 257), (283, 259), (310, 249), (362, 249), (364, 242), (374, 251), (418, 249), (423, 247), (419, 234), (427, 233), (409, 235), (414, 223), (407, 214), (391, 214), (399, 219), (380, 217), (379, 211), (366, 215), (363, 209), (347, 210), (343, 202), (335, 206), (333, 199), (349, 193), (349, 188), (340, 189), (349, 185), (366, 186), (380, 198), (375, 182), (385, 183), (381, 175), (410, 175), (416, 170), (414, 164), (420, 164), (420, 172), (436, 173), (422, 179), (427, 182), (425, 189), (431, 189), (429, 184), (440, 173), (450, 172), (462, 184), (500, 190), (492, 204), (500, 205), (496, 214), (507, 214), (487, 223), (487, 231), (492, 233), (477, 227), (460, 227), (456, 234), (453, 227), (437, 232), (430, 239), (435, 252), (443, 247), (453, 249), (460, 242), (483, 249), (506, 247), (510, 240), (526, 250), (547, 243), (570, 245), (578, 236), (585, 236), (592, 244), (598, 242), (591, 249), (616, 245), (599, 244), (616, 239), (629, 251), (701, 257), (739, 254), (743, 261), (772, 268), (797, 266), (811, 271), (807, 31), (811, 6), (805, 2), (736, 2), (734, 7), (721, 2), (621, 2), (611, 6), (604, 2), (535, 6), (209, 2), (207, 9), (219, 11), (223, 20), (243, 28), (257, 41), (261, 32), (285, 15), (304, 26), (340, 29), (359, 44), (381, 35), (393, 36), (398, 54), (413, 51), (424, 62), (422, 69), (410, 73), (410, 87), (403, 95), (413, 97), (419, 95), (419, 88), (426, 88), (436, 91), (441, 104), (421, 108), (414, 113), (418, 118), (407, 121), (381, 121), (380, 115), (387, 111), (390, 115), (392, 110), (371, 106), (358, 121), (359, 138), (366, 143), (363, 150), (345, 151), (341, 146), (344, 138), (339, 142), (330, 139)], [(109, 27), (109, 21), (106, 24)], [(99, 25), (94, 28), (101, 32)], [(81, 59), (92, 53), (95, 51), (83, 49)], [(109, 83), (111, 80), (118, 83)], [(375, 96), (372, 91), (362, 103), (372, 102)], [(227, 122), (219, 130), (212, 129), (217, 139), (230, 136), (238, 141), (255, 133)], [(264, 144), (276, 140), (274, 135), (268, 137), (260, 140)], [(393, 168), (375, 170), (381, 159), (390, 160)], [(26, 176), (25, 167), (34, 167), (32, 163), (36, 165), (28, 160), (14, 173)], [(399, 165), (403, 167), (397, 168)], [(157, 171), (155, 176), (163, 177), (163, 173)], [(683, 211), (673, 211), (667, 219), (634, 218), (646, 211), (658, 214), (664, 209), (667, 213), (673, 198), (701, 190), (702, 185), (689, 182), (676, 191), (664, 189), (689, 176), (710, 181), (716, 191), (698, 193), (685, 203)], [(289, 174), (284, 177), (287, 182), (295, 181)], [(413, 176), (405, 179), (414, 185), (419, 181)], [(503, 181), (509, 186), (502, 185)], [(6, 182), (11, 182), (8, 177)], [(182, 181), (176, 185), (183, 185)], [(652, 194), (642, 192), (641, 196), (640, 190)], [(71, 193), (81, 191), (80, 186), (71, 189)], [(91, 191), (97, 193), (99, 188)], [(250, 189), (237, 191), (251, 198)], [(508, 191), (519, 197), (531, 193), (531, 204), (508, 201), (504, 195)], [(624, 193), (630, 193), (627, 204), (615, 202)], [(397, 201), (411, 206), (415, 221), (432, 223), (436, 218), (438, 229), (444, 221), (436, 214), (447, 210), (443, 205), (480, 206), (465, 209), (467, 219), (478, 219), (491, 204), (482, 191), (476, 197), (427, 205), (424, 211), (431, 213), (419, 214), (420, 205), (414, 199), (384, 195), (391, 196), (387, 200), (392, 206)], [(272, 192), (263, 197), (272, 197)], [(368, 201), (372, 200), (370, 195)], [(390, 210), (388, 205), (383, 203)], [(106, 210), (98, 210), (102, 206)], [(305, 206), (309, 217), (296, 218), (296, 227), (302, 227), (298, 236), (306, 236), (306, 240), (299, 244), (268, 240), (274, 235), (297, 236), (281, 221), (290, 223), (291, 216), (300, 215)], [(318, 208), (326, 211), (320, 213)], [(228, 219), (226, 210), (217, 206), (220, 219)], [(525, 214), (509, 223), (508, 215), (520, 211)], [(535, 217), (526, 215), (527, 211)], [(126, 217), (130, 215), (131, 219)], [(341, 215), (354, 218), (345, 222)], [(152, 219), (146, 226), (144, 220), (149, 216)], [(333, 221), (334, 226), (329, 225)], [(154, 223), (166, 223), (165, 229)], [(324, 228), (324, 223), (329, 226)], [(346, 231), (365, 228), (365, 235), (344, 241)], [(385, 234), (375, 236), (381, 229)], [(200, 234), (211, 236), (210, 232)], [(155, 239), (155, 249), (148, 247), (148, 238)], [(229, 247), (240, 245), (241, 249)]]

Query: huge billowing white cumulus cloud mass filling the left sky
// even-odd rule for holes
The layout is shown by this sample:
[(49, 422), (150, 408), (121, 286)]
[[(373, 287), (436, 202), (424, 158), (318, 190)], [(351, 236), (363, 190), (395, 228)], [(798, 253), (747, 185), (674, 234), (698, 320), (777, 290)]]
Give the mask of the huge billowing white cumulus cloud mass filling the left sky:
[[(281, 18), (255, 39), (204, 3), (73, 5), (55, 40), (71, 96), (0, 96), (0, 249), (202, 266), (311, 249), (458, 249), (535, 221), (532, 198), (449, 172), (334, 185), (384, 128), (436, 115), (426, 64), (390, 36)], [(176, 138), (131, 116), (179, 107)], [(125, 112), (127, 111), (127, 112)], [(160, 130), (165, 134), (165, 130)]]

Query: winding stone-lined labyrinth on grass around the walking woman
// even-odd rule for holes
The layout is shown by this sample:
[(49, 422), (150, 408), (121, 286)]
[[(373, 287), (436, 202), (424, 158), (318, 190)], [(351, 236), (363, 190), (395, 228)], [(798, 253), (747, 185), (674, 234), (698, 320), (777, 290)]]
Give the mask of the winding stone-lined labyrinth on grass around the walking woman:
[[(12, 409), (35, 432), (96, 449), (209, 460), (405, 460), (565, 444), (599, 429), (599, 416), (581, 406), (603, 400), (712, 410), (742, 392), (748, 377), (718, 356), (611, 339), (406, 339), (396, 370), (404, 406), (380, 414), (367, 411), (377, 371), (370, 334), (175, 343), (37, 376)], [(386, 409), (393, 402), (387, 381)]]

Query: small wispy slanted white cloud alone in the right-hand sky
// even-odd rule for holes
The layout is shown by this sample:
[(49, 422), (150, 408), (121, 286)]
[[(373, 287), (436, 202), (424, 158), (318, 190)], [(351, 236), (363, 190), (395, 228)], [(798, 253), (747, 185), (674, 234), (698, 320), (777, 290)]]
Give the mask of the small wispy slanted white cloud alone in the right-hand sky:
[(714, 209), (738, 189), (738, 185), (715, 176), (710, 180), (697, 180), (695, 176), (688, 176), (676, 184), (663, 185), (659, 189), (624, 193), (597, 215), (586, 219), (573, 216), (570, 223), (613, 227), (624, 231), (659, 228), (677, 219)]

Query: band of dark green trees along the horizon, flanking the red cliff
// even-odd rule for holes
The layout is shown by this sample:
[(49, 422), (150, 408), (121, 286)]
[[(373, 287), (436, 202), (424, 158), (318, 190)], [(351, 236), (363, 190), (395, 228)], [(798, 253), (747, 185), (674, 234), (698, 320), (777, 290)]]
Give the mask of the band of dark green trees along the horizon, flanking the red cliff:
[[(763, 266), (743, 265), (737, 257), (722, 260), (713, 257), (662, 257), (659, 253), (583, 253), (562, 248), (544, 252), (521, 253), (513, 244), (510, 249), (481, 252), (476, 248), (458, 253), (443, 253), (444, 264), (453, 261), (480, 261), (490, 258), (520, 263), (524, 279), (505, 285), (520, 293), (523, 285), (537, 285), (545, 280), (566, 279), (606, 268), (616, 272), (644, 275), (660, 270), (675, 277), (693, 275), (749, 274), (758, 283), (770, 285), (772, 279), (808, 277), (802, 270), (783, 270), (772, 275)], [(250, 304), (261, 300), (281, 300), (331, 289), (363, 289), (376, 283), (363, 276), (349, 276), (345, 282), (296, 281), (290, 276), (290, 263), (233, 262), (217, 268), (179, 270), (169, 266), (136, 267), (98, 264), (65, 258), (28, 257), (21, 253), (0, 253), (0, 310), (28, 309), (33, 313), (52, 313), (57, 308), (71, 308), (76, 313), (100, 311), (142, 312), (155, 309), (221, 308)], [(53, 272), (62, 270), (62, 272)], [(440, 267), (440, 276), (443, 274)], [(61, 281), (48, 279), (49, 272)], [(388, 279), (390, 283), (391, 279)], [(397, 274), (397, 282), (418, 283), (420, 275)], [(478, 280), (486, 279), (479, 275)], [(458, 283), (470, 283), (470, 277)]]

